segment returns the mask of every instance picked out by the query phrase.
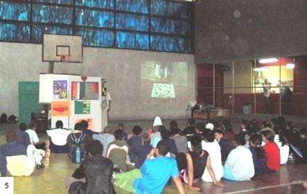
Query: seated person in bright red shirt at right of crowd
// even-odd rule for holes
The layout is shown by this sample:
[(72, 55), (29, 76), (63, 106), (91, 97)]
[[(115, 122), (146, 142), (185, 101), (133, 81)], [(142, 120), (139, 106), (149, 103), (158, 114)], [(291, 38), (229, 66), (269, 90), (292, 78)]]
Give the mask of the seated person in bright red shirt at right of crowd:
[(262, 132), (262, 139), (265, 142), (263, 146), (266, 155), (266, 166), (269, 172), (275, 172), (281, 168), (281, 155), (279, 148), (274, 143), (274, 135), (270, 130)]

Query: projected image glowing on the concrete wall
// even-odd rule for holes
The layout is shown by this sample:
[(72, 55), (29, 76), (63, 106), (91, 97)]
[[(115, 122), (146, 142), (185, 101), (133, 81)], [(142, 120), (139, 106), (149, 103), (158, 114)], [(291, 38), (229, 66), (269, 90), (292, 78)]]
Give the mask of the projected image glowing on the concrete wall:
[(144, 62), (141, 65), (141, 82), (146, 96), (176, 98), (177, 93), (188, 87), (188, 66), (186, 62)]

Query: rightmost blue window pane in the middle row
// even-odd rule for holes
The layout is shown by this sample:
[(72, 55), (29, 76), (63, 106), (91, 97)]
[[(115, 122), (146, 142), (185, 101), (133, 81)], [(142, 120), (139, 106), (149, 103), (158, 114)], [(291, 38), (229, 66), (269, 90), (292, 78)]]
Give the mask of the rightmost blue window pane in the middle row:
[(166, 33), (175, 35), (190, 34), (190, 25), (186, 21), (176, 21), (173, 19), (160, 19), (152, 17), (151, 31), (154, 33)]

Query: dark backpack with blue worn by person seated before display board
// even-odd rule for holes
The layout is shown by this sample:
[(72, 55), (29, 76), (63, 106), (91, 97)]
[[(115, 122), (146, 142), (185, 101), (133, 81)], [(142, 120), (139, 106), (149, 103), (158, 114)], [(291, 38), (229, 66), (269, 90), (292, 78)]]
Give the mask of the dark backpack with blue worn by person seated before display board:
[(73, 163), (81, 163), (85, 159), (85, 134), (79, 137), (76, 134), (71, 134), (71, 148), (69, 150), (69, 158)]

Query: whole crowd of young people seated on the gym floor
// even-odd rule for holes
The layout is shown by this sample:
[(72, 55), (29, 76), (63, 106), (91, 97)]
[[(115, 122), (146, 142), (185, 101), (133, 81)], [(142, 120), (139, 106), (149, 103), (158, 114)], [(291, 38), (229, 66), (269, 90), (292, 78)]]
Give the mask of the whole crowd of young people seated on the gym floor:
[[(197, 123), (188, 120), (184, 130), (171, 121), (167, 129), (155, 118), (150, 130), (134, 126), (128, 134), (121, 123), (96, 133), (88, 123), (76, 123), (73, 130), (47, 130), (52, 153), (67, 153), (80, 167), (69, 177), (69, 193), (114, 193), (114, 186), (128, 192), (161, 193), (173, 179), (179, 193), (184, 184), (199, 191), (195, 182), (224, 186), (221, 179), (246, 181), (263, 173), (277, 172), (288, 159), (307, 164), (307, 129), (295, 129), (283, 117), (272, 121), (242, 121), (235, 134), (228, 121)], [(35, 123), (21, 123), (19, 130), (6, 132), (0, 147), (1, 176), (30, 175), (43, 168), (46, 143), (39, 141)], [(26, 168), (20, 169), (21, 163)], [(159, 170), (157, 170), (159, 169)]]

